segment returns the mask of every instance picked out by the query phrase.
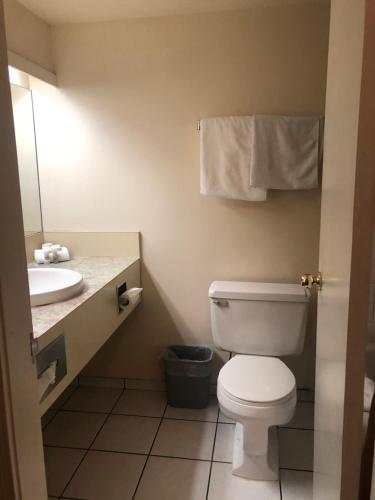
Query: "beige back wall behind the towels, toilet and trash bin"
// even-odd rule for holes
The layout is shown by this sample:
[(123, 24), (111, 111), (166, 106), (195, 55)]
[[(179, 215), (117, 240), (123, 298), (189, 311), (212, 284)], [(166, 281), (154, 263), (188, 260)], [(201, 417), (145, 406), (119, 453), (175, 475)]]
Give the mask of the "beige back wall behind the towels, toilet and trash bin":
[(323, 113), (328, 21), (324, 2), (53, 28), (61, 87), (36, 93), (45, 230), (142, 234), (144, 302), (87, 373), (155, 378), (166, 344), (211, 343), (212, 280), (317, 270), (319, 192), (202, 197), (196, 121)]

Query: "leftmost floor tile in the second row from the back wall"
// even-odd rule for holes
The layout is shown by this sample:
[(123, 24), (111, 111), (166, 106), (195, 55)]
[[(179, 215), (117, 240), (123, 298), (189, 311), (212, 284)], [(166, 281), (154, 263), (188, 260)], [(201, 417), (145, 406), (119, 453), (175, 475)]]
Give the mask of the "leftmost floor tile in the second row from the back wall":
[(44, 443), (88, 448), (105, 419), (100, 413), (59, 412), (43, 432)]

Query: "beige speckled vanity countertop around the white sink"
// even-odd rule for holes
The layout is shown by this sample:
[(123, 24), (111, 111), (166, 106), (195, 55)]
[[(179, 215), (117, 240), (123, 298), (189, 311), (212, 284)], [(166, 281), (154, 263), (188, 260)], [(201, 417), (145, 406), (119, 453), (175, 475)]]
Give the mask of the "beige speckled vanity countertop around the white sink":
[(80, 272), (84, 281), (83, 291), (80, 295), (64, 302), (31, 308), (34, 338), (46, 333), (137, 260), (139, 257), (75, 257), (68, 262), (59, 264), (29, 264), (29, 267), (72, 269)]

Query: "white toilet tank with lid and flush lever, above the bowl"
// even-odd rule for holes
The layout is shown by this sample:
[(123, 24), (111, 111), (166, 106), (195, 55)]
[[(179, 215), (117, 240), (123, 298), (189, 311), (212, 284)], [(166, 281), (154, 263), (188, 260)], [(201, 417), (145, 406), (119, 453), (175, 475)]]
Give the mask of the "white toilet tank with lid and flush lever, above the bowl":
[(308, 289), (282, 283), (214, 281), (208, 295), (212, 335), (220, 349), (264, 356), (301, 353)]

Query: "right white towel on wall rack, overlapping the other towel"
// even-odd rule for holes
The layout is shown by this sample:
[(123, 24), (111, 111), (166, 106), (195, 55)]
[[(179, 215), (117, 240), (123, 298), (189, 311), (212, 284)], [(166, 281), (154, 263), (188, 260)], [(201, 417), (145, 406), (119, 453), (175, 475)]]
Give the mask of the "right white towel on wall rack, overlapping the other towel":
[(254, 115), (250, 186), (318, 187), (322, 125), (317, 116)]

